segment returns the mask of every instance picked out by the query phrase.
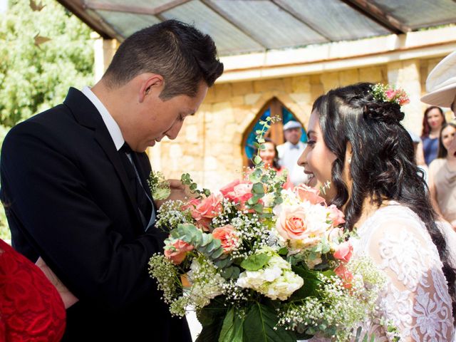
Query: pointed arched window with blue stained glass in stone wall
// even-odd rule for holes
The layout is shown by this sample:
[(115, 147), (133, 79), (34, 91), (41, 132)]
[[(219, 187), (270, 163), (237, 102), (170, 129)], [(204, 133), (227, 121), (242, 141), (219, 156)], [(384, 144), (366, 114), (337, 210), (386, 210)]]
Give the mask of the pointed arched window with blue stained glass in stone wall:
[[(249, 165), (249, 160), (252, 159), (255, 147), (255, 132), (261, 128), (259, 122), (261, 120), (266, 120), (267, 117), (276, 118), (279, 117), (279, 120), (276, 123), (271, 125), (271, 128), (266, 133), (266, 137), (273, 140), (277, 145), (283, 144), (284, 140), (284, 125), (290, 120), (295, 120), (301, 122), (296, 118), (296, 115), (291, 113), (291, 111), (285, 107), (283, 103), (280, 102), (278, 98), (271, 98), (264, 106), (261, 108), (255, 119), (249, 125), (247, 130), (244, 132), (242, 137), (242, 157), (244, 166)], [(302, 124), (302, 123), (301, 123)], [(306, 130), (304, 130), (303, 125), (303, 134), (301, 136), (302, 142), (307, 142)]]

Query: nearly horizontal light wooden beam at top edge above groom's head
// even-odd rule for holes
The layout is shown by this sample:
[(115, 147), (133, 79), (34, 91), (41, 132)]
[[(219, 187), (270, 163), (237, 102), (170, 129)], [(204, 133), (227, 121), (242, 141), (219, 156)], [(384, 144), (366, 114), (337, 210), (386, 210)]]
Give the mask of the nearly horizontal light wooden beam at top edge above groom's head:
[(103, 11), (112, 11), (112, 12), (124, 12), (124, 13), (133, 13), (133, 14), (149, 14), (151, 16), (157, 16), (165, 11), (174, 9), (177, 6), (185, 4), (190, 0), (172, 0), (163, 4), (161, 6), (132, 6), (132, 5), (122, 5), (122, 4), (110, 4), (109, 2), (98, 2), (98, 1), (85, 1), (86, 8), (103, 10)]

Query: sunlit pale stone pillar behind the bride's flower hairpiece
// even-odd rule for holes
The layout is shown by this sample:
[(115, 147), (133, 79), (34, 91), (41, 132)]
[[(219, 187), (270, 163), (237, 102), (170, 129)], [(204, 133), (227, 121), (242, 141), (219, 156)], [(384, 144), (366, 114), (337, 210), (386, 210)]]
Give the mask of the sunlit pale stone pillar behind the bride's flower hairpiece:
[(420, 61), (411, 59), (388, 63), (388, 83), (391, 86), (403, 88), (408, 93), (410, 103), (402, 108), (405, 113), (402, 124), (408, 130), (420, 135), (423, 117), (420, 101)]

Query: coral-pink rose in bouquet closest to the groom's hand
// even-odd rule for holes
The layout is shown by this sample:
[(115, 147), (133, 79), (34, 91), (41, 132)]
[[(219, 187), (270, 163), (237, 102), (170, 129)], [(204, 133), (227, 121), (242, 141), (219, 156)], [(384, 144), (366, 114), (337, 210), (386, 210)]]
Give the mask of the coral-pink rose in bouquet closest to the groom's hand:
[(204, 199), (190, 199), (190, 213), (197, 226), (209, 232), (212, 219), (222, 212), (222, 195), (211, 194)]

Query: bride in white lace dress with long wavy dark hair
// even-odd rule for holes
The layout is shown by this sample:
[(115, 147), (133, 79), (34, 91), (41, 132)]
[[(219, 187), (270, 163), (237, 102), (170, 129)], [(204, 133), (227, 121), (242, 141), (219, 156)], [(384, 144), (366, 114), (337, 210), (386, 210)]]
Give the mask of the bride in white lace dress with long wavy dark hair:
[(311, 185), (331, 182), (324, 196), (356, 229), (354, 255), (373, 258), (388, 279), (375, 318), (361, 323), (363, 335), (395, 341), (386, 328), (394, 326), (400, 341), (451, 341), (455, 270), (400, 105), (374, 96), (372, 86), (337, 88), (316, 100), (298, 163)]

